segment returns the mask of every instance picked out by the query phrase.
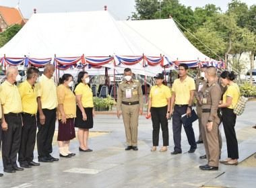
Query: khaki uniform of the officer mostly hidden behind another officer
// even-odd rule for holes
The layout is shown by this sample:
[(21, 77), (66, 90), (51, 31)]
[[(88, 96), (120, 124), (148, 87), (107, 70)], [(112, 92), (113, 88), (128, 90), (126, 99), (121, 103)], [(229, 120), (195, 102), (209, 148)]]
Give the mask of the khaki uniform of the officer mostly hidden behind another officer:
[[(199, 97), (199, 92), (203, 88), (203, 85), (206, 84), (206, 81), (202, 79), (201, 77), (197, 78), (197, 81), (195, 83), (195, 98)], [(199, 97), (200, 98), (200, 97)], [(199, 126), (199, 138), (198, 140), (203, 140), (202, 136), (202, 124), (201, 124), (201, 118), (202, 118), (202, 109), (199, 101), (197, 100), (197, 105), (196, 105), (196, 111), (197, 111), (197, 116), (198, 116), (198, 126)]]

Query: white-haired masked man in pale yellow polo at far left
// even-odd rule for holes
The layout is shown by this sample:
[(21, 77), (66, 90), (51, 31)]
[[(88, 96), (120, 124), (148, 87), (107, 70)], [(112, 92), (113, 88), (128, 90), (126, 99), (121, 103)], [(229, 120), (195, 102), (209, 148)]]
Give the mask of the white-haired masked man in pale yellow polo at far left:
[(0, 86), (0, 99), (3, 105), (4, 118), (1, 126), (3, 130), (3, 171), (5, 173), (15, 173), (23, 171), (18, 167), (17, 153), (20, 148), (20, 138), (22, 136), (22, 101), (15, 82), (21, 77), (17, 68), (9, 66), (6, 73), (7, 80)]

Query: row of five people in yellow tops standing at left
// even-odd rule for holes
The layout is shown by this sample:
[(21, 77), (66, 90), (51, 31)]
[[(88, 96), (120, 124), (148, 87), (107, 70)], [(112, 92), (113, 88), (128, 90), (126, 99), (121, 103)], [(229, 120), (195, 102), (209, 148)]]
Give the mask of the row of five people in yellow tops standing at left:
[[(27, 80), (17, 87), (15, 83), (21, 79), (17, 68), (7, 68), (7, 79), (0, 86), (0, 140), (5, 173), (39, 166), (38, 162), (59, 160), (51, 156), (57, 120), (59, 156), (70, 158), (75, 155), (69, 151), (69, 142), (75, 138), (75, 126), (78, 128), (79, 150), (92, 152), (88, 147), (88, 134), (93, 127), (94, 109), (92, 91), (87, 85), (90, 81), (88, 73), (79, 73), (75, 94), (70, 89), (74, 84), (72, 75), (63, 75), (56, 87), (52, 79), (54, 73), (53, 64), (44, 66), (42, 76), (39, 75), (38, 68), (30, 67), (27, 70)], [(35, 143), (38, 162), (33, 161)], [(16, 162), (17, 154), (20, 167)]]

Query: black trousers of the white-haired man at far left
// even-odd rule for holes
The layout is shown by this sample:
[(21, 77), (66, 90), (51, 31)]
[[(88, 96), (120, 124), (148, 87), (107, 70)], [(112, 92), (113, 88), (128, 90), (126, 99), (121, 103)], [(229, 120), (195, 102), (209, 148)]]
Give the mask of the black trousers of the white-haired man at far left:
[(5, 122), (8, 124), (8, 130), (3, 131), (2, 138), (3, 169), (11, 170), (18, 167), (16, 160), (22, 136), (22, 117), (5, 114)]

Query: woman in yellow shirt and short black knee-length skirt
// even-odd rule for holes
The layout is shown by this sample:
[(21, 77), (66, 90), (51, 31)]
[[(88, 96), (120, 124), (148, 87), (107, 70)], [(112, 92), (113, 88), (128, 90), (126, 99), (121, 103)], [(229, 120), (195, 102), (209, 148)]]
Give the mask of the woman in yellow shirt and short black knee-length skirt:
[(92, 152), (88, 147), (89, 129), (93, 128), (94, 103), (92, 101), (92, 89), (88, 86), (90, 81), (87, 72), (80, 72), (77, 77), (77, 87), (75, 87), (75, 98), (77, 101), (77, 118), (75, 127), (78, 128), (79, 151)]

